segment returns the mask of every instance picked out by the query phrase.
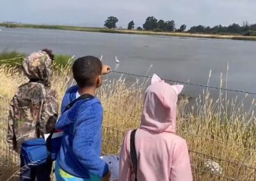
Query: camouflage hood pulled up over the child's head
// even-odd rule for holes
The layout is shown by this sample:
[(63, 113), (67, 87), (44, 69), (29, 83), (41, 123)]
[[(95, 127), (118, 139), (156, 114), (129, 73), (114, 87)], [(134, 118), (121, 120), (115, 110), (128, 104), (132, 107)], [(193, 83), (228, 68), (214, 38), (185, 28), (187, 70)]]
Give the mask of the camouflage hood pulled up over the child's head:
[(22, 62), (22, 70), (30, 80), (43, 82), (44, 85), (51, 85), (52, 59), (44, 51), (30, 54)]

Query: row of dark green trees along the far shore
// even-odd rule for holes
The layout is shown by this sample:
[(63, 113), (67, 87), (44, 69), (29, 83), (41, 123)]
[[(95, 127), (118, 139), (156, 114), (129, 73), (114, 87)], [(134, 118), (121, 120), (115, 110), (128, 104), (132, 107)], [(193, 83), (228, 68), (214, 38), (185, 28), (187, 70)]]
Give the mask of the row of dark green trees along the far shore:
[[(108, 17), (105, 21), (104, 27), (108, 29), (115, 29), (118, 18)], [(142, 27), (137, 27), (137, 30), (155, 31), (155, 32), (183, 32), (186, 30), (186, 24), (175, 27), (174, 20), (157, 20), (155, 17), (147, 17)], [(127, 29), (134, 29), (133, 20), (127, 25)], [(216, 25), (214, 27), (196, 25), (188, 30), (188, 33), (210, 33), (210, 34), (243, 34), (244, 36), (256, 36), (256, 24), (249, 24), (243, 22), (242, 25), (231, 24), (228, 26)]]

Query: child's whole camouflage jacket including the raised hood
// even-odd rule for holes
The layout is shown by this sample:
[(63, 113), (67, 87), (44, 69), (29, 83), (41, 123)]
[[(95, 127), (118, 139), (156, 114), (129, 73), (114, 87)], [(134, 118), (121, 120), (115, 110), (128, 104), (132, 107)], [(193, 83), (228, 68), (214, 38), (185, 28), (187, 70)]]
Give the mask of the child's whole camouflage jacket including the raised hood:
[(58, 117), (56, 91), (51, 85), (52, 60), (46, 52), (29, 55), (22, 62), (30, 82), (21, 85), (10, 103), (7, 141), (20, 152), (20, 145), (51, 133)]

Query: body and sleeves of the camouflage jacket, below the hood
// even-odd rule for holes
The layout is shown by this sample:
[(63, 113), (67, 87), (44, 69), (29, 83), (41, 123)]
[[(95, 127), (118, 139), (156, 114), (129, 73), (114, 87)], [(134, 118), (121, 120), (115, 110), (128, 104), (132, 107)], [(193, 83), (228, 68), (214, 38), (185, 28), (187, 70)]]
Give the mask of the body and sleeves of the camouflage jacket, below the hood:
[(55, 91), (42, 83), (21, 85), (10, 103), (7, 134), (10, 147), (19, 153), (24, 141), (51, 133), (57, 117)]

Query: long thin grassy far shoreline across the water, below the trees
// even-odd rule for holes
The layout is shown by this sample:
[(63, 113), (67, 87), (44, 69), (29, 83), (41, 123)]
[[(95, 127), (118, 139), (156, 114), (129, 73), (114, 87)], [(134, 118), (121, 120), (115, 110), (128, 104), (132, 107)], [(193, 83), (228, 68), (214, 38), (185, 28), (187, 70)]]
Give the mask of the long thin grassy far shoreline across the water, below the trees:
[(77, 27), (68, 25), (35, 25), (35, 24), (4, 24), (0, 23), (0, 27), (22, 27), (31, 29), (55, 29), (65, 31), (84, 31), (95, 33), (118, 33), (118, 34), (140, 34), (152, 36), (171, 36), (181, 38), (205, 38), (205, 39), (221, 39), (221, 40), (248, 40), (256, 41), (256, 36), (238, 36), (238, 35), (221, 35), (221, 34), (198, 34), (198, 33), (177, 33), (177, 32), (154, 32), (154, 31), (138, 31), (127, 29), (106, 29), (102, 27)]

